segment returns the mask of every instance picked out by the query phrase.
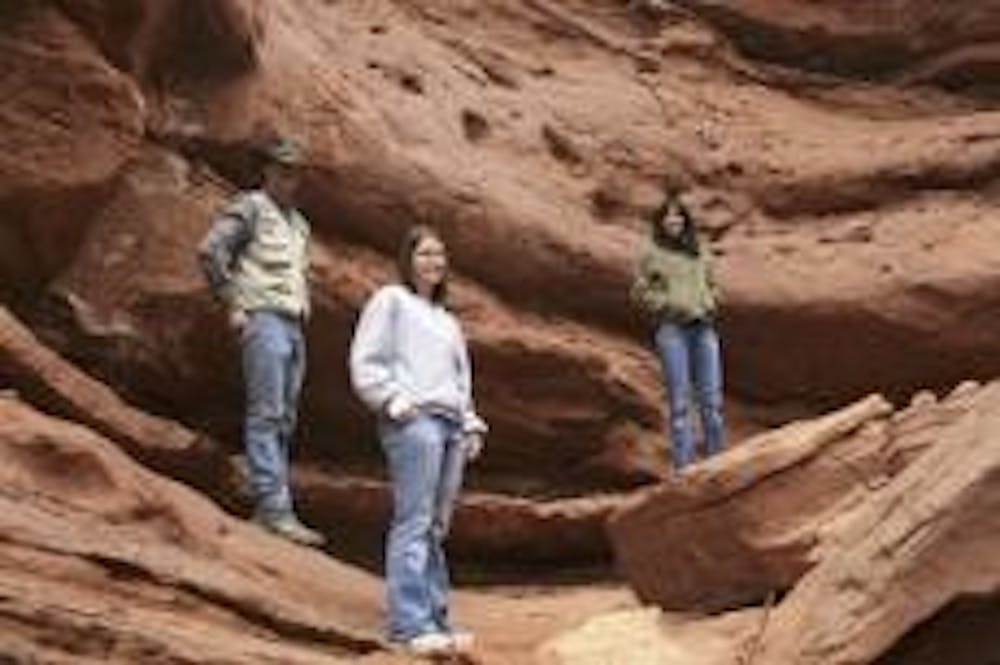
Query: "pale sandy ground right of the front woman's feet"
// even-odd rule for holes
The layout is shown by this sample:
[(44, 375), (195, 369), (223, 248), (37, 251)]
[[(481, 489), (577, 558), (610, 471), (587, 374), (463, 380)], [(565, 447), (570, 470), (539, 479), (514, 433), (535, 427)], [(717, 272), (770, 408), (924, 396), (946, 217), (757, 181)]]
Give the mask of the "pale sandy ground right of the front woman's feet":
[[(705, 617), (639, 605), (618, 584), (492, 587), (456, 595), (455, 614), (477, 635), (463, 665), (733, 665), (766, 621), (752, 608)], [(419, 662), (401, 654), (366, 665)]]

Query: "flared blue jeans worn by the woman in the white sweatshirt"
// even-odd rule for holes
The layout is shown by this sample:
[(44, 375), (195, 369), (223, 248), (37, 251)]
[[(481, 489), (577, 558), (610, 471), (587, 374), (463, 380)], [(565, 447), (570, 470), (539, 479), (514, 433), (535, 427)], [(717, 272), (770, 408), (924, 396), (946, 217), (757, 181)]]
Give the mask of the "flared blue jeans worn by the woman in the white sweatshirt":
[(458, 423), (419, 414), (380, 424), (392, 480), (392, 524), (386, 540), (385, 577), (393, 640), (448, 632), (448, 535), (462, 486), (465, 451)]

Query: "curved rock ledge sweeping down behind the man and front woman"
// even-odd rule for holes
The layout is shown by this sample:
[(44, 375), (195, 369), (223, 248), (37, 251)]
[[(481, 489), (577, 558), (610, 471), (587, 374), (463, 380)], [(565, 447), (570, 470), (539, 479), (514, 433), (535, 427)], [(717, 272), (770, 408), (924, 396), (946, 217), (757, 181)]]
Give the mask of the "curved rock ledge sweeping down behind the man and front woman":
[[(0, 390), (93, 429), (137, 461), (236, 512), (250, 508), (238, 458), (204, 434), (130, 406), (47, 348), (3, 308)], [(333, 538), (338, 553), (371, 559), (381, 549), (392, 504), (386, 481), (303, 464), (293, 487), (303, 514)], [(625, 501), (624, 495), (532, 501), (469, 492), (456, 509), (452, 548), (457, 557), (479, 562), (503, 559), (549, 567), (607, 561), (604, 521)]]

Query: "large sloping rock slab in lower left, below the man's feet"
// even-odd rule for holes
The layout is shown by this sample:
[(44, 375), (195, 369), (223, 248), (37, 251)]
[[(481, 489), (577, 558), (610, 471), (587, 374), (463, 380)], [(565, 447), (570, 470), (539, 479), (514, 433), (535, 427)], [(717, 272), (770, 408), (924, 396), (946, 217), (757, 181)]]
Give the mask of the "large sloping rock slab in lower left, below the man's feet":
[(0, 633), (15, 662), (340, 663), (381, 584), (234, 520), (93, 431), (0, 399)]

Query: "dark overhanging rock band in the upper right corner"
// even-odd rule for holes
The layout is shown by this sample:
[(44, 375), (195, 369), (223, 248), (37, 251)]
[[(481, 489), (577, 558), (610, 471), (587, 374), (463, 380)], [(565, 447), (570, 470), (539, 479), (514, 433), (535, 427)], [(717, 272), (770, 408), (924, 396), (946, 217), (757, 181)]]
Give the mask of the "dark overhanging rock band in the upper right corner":
[(737, 0), (676, 4), (740, 51), (819, 74), (913, 83), (996, 98), (1000, 3)]

